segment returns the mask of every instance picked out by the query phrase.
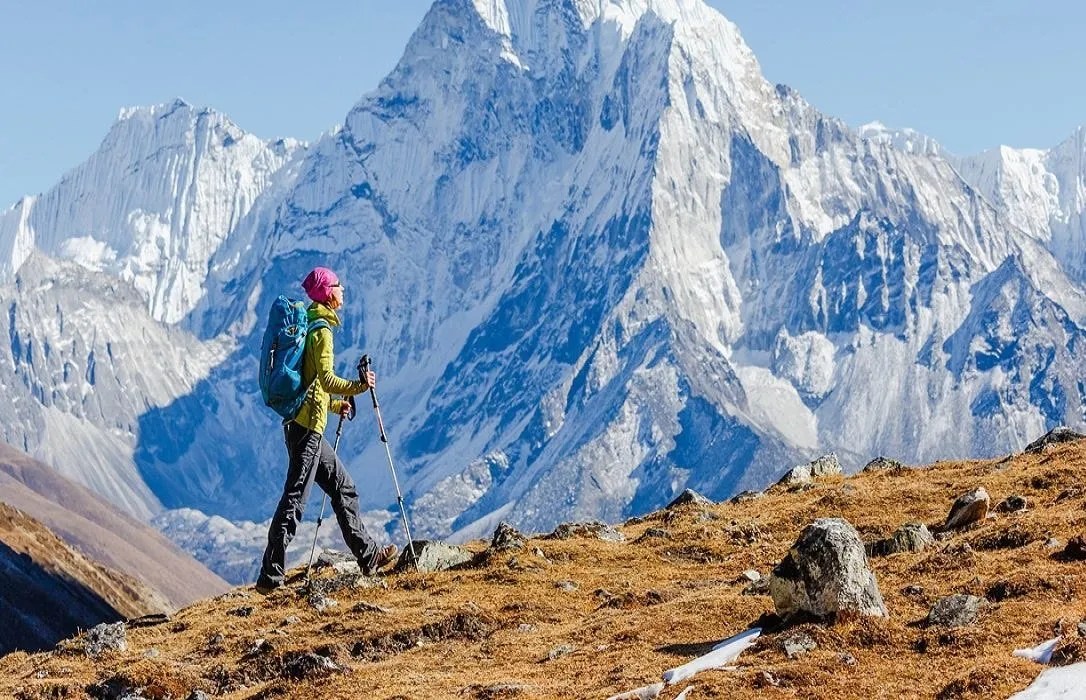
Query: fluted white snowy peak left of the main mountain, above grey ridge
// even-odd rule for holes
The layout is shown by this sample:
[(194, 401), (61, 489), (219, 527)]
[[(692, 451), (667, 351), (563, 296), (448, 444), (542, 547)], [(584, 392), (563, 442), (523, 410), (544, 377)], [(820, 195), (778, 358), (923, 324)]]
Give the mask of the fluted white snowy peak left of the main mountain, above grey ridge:
[(102, 145), (36, 200), (0, 213), (0, 280), (37, 249), (131, 282), (176, 322), (209, 263), (300, 142), (265, 142), (184, 100), (123, 110)]

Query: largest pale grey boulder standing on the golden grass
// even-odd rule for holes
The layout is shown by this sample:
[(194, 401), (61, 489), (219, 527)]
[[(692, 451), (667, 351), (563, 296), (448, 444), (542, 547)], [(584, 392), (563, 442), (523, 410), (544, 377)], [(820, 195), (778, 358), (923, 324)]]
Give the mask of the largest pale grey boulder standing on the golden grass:
[(842, 611), (887, 615), (860, 535), (842, 518), (820, 518), (804, 529), (773, 569), (769, 593), (781, 618), (800, 612), (825, 618)]

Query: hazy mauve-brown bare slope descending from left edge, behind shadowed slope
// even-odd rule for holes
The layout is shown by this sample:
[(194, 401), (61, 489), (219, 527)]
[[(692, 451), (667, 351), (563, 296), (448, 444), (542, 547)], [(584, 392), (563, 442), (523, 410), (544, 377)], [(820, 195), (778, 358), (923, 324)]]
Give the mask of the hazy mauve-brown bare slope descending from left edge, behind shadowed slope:
[(4, 444), (0, 444), (0, 502), (29, 513), (91, 559), (154, 588), (171, 609), (229, 588), (147, 523)]

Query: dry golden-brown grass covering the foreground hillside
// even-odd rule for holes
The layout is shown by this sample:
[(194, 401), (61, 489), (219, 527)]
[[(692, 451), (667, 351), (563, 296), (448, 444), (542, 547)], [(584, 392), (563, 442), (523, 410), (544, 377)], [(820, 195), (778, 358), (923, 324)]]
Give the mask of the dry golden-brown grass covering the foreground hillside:
[[(1086, 445), (1072, 444), (684, 506), (628, 522), (624, 544), (536, 537), (478, 568), (336, 591), (339, 604), (325, 612), (299, 589), (265, 598), (241, 588), (129, 629), (127, 651), (96, 661), (62, 650), (0, 659), (0, 696), (78, 698), (113, 683), (152, 699), (193, 689), (239, 699), (603, 699), (657, 682), (759, 619), (772, 623), (772, 600), (742, 595), (740, 576), (768, 574), (816, 518), (844, 517), (867, 542), (906, 522), (942, 523), (956, 496), (984, 486), (993, 507), (1018, 494), (1030, 508), (996, 513), (924, 552), (872, 559), (888, 620), (769, 626), (736, 669), (703, 672), (660, 697), (694, 686), (689, 700), (1006, 698), (1040, 671), (1013, 649), (1060, 629), (1069, 641), (1059, 658), (1084, 658), (1075, 626), (1086, 616), (1086, 562), (1064, 561), (1046, 544), (1086, 533), (1084, 468)], [(649, 529), (670, 537), (642, 537)], [(977, 624), (924, 626), (931, 604), (955, 593), (988, 599)], [(781, 641), (796, 632), (818, 648), (790, 660)], [(345, 671), (321, 675), (307, 652)]]

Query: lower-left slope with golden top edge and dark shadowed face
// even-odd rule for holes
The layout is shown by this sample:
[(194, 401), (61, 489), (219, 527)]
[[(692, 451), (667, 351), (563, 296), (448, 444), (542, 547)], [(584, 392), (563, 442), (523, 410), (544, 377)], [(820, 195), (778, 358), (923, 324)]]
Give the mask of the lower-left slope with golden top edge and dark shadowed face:
[(147, 586), (94, 563), (26, 513), (0, 504), (0, 651), (50, 648), (79, 628), (165, 604)]

